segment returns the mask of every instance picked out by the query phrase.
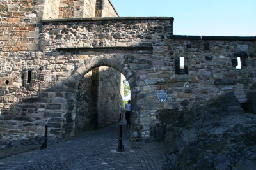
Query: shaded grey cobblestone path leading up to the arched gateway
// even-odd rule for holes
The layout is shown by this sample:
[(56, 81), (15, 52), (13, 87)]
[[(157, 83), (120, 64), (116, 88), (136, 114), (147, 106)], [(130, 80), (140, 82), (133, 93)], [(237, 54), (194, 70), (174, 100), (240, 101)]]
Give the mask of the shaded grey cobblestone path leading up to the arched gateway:
[(163, 143), (130, 142), (123, 125), (125, 152), (118, 149), (118, 124), (76, 138), (0, 159), (0, 169), (162, 169)]

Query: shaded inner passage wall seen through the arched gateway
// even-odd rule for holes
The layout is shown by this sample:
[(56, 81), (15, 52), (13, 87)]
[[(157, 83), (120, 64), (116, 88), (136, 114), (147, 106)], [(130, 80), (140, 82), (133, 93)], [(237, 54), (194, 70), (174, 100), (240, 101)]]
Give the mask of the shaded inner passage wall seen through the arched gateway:
[(76, 104), (76, 132), (115, 124), (122, 109), (121, 73), (111, 67), (97, 67), (79, 84)]

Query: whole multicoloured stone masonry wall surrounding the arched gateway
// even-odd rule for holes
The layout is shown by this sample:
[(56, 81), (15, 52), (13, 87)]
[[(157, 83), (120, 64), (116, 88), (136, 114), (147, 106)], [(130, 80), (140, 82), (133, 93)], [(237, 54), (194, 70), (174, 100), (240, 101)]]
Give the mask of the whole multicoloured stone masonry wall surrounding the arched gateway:
[[(43, 1), (1, 1), (0, 145), (40, 136), (45, 124), (54, 138), (83, 130), (81, 110), (92, 104), (84, 96), (92, 94), (86, 74), (99, 66), (129, 82), (131, 140), (150, 137), (157, 110), (189, 111), (230, 91), (246, 103), (255, 83), (255, 37), (173, 35), (172, 17), (41, 20), (43, 14)], [(237, 57), (242, 69), (236, 69)], [(167, 90), (166, 101), (158, 100), (157, 90)]]

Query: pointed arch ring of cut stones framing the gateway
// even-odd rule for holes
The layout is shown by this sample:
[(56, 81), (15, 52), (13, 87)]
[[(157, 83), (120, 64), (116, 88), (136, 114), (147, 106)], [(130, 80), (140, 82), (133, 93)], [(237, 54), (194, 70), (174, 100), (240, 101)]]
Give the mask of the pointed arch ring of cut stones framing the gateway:
[[(131, 101), (132, 101), (132, 113), (131, 113), (131, 138), (132, 140), (138, 140), (141, 138), (141, 132), (140, 132), (140, 117), (138, 115), (139, 110), (138, 107), (136, 107), (136, 95), (133, 94), (134, 89), (137, 87), (138, 76), (134, 71), (131, 71), (129, 67), (125, 66), (125, 64), (122, 64), (118, 62), (115, 59), (111, 59), (108, 57), (95, 57), (92, 59), (85, 60), (83, 64), (81, 64), (80, 67), (74, 71), (74, 73), (68, 78), (67, 83), (65, 83), (65, 90), (66, 92), (70, 93), (72, 92), (74, 96), (77, 94), (77, 88), (79, 86), (79, 83), (83, 80), (83, 77), (86, 73), (89, 71), (92, 71), (96, 67), (100, 66), (108, 66), (113, 69), (116, 69), (118, 72), (122, 73), (126, 80), (129, 82), (130, 88), (131, 88)], [(67, 103), (68, 103), (68, 99)], [(68, 103), (70, 105), (71, 103)], [(73, 101), (71, 104), (73, 106), (76, 106), (76, 100)], [(65, 114), (72, 118), (72, 122), (66, 122), (65, 125), (62, 126), (62, 129), (64, 133), (64, 138), (67, 138), (67, 136), (74, 136), (74, 131), (76, 129), (76, 110), (74, 109), (76, 107), (66, 107)], [(70, 119), (68, 119), (70, 120)]]

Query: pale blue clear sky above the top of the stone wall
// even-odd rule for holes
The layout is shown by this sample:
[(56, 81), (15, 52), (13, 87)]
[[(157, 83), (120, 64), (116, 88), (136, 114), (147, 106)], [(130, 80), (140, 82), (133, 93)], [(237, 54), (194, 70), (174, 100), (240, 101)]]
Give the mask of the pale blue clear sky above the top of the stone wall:
[(256, 36), (256, 0), (111, 0), (120, 17), (173, 17), (173, 34)]

